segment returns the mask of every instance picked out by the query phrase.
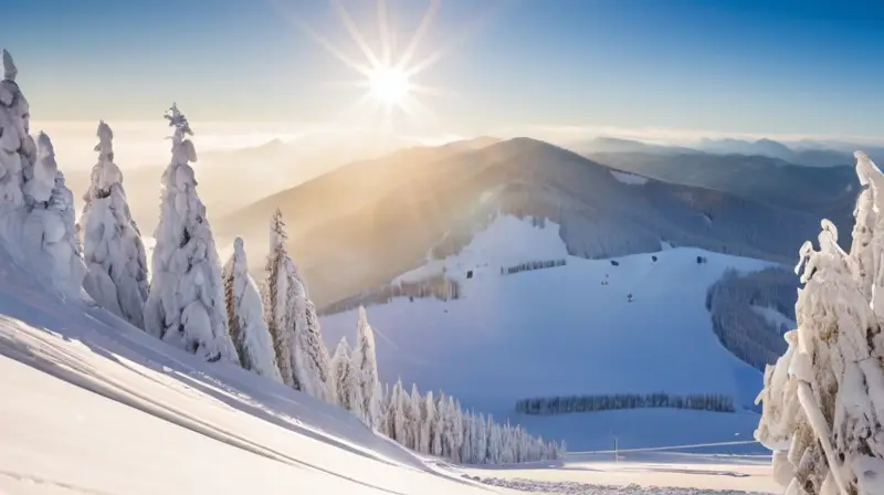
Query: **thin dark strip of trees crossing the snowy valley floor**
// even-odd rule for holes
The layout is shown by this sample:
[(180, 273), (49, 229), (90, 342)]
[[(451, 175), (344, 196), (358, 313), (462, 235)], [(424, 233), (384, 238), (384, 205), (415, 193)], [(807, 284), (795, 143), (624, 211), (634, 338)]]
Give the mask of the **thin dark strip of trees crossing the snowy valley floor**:
[(702, 411), (734, 412), (734, 399), (720, 393), (674, 396), (671, 393), (615, 393), (570, 397), (541, 397), (516, 402), (516, 412), (523, 414), (568, 414), (571, 412), (613, 411), (620, 409), (693, 409)]

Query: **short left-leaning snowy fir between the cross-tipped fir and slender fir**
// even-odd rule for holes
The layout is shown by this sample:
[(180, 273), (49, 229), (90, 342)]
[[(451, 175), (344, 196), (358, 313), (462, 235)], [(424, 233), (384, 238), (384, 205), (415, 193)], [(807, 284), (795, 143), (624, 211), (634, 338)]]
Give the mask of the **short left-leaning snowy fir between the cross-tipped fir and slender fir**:
[(249, 260), (243, 241), (233, 241), (233, 254), (221, 273), (228, 310), (230, 338), (240, 365), (255, 373), (282, 382), (273, 339), (264, 323), (264, 307), (255, 281), (249, 275)]

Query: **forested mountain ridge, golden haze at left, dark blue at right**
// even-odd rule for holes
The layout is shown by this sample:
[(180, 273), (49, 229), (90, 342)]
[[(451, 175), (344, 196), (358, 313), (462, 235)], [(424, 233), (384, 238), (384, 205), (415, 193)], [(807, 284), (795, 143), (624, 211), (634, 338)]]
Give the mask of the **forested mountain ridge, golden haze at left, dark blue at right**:
[[(645, 155), (657, 161), (613, 151), (590, 159), (530, 138), (409, 148), (337, 168), (213, 220), (213, 228), (244, 236), (257, 270), (270, 215), (281, 208), (290, 247), (322, 305), (387, 283), (428, 256), (457, 252), (501, 212), (556, 221), (568, 251), (583, 257), (673, 244), (792, 263), (818, 233), (820, 212), (844, 225), (855, 198), (854, 186), (841, 180), (846, 167)], [(692, 155), (708, 158), (693, 168), (727, 173), (680, 176), (678, 164)], [(806, 185), (815, 192), (796, 192)]]

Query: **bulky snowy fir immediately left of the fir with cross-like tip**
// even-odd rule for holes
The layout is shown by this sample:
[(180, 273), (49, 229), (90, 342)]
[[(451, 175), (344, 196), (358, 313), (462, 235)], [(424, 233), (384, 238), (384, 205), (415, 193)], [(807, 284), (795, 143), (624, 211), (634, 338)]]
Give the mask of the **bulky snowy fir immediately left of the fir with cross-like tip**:
[(88, 273), (83, 286), (103, 308), (144, 328), (147, 301), (147, 257), (123, 188), (123, 173), (114, 164), (110, 127), (98, 124), (98, 162), (92, 168), (80, 219)]

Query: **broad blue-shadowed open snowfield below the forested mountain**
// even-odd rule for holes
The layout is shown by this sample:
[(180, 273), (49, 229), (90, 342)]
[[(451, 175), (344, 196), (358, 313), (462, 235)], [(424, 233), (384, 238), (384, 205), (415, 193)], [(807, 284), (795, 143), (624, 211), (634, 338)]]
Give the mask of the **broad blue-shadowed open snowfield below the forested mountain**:
[[(697, 256), (707, 262), (697, 264)], [(558, 259), (567, 265), (501, 275), (501, 267)], [(397, 298), (368, 308), (381, 379), (444, 390), (465, 407), (565, 439), (572, 450), (607, 449), (614, 436), (635, 447), (750, 439), (758, 415), (749, 412), (512, 413), (518, 399), (591, 393), (725, 393), (738, 407), (753, 402), (761, 373), (718, 343), (706, 289), (728, 267), (770, 263), (686, 247), (615, 262), (569, 256), (555, 223), (499, 217), (456, 256), (399, 277), (444, 273), (460, 282), (461, 298)], [(329, 345), (341, 336), (352, 341), (356, 313), (322, 324)]]

